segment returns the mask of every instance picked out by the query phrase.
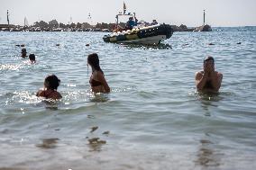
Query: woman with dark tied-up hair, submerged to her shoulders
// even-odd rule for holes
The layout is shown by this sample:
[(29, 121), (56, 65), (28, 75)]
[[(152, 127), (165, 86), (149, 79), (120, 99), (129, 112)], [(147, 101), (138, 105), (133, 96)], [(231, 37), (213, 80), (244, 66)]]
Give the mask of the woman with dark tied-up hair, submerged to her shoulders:
[(60, 80), (55, 75), (47, 76), (44, 79), (44, 88), (39, 90), (36, 94), (38, 97), (45, 97), (46, 99), (61, 99), (62, 96), (57, 92), (57, 88), (60, 84)]

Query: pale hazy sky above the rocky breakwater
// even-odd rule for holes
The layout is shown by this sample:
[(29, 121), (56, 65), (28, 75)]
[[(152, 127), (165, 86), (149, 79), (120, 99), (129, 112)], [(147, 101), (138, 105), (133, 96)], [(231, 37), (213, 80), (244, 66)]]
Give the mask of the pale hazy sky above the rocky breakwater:
[(256, 26), (256, 0), (0, 0), (0, 23), (7, 23), (7, 10), (11, 24), (23, 25), (24, 17), (29, 24), (53, 19), (65, 24), (115, 22), (115, 15), (123, 11), (123, 2), (127, 12), (136, 13), (139, 21), (156, 19), (194, 27), (203, 24), (206, 10), (206, 23), (214, 27)]

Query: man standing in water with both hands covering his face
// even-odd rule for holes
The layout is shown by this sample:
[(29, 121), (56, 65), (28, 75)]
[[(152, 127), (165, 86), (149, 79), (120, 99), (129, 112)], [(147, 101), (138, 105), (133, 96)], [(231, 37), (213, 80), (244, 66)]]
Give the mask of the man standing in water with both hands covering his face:
[(196, 73), (197, 90), (202, 92), (217, 93), (221, 87), (223, 74), (215, 71), (215, 59), (204, 59), (204, 70)]

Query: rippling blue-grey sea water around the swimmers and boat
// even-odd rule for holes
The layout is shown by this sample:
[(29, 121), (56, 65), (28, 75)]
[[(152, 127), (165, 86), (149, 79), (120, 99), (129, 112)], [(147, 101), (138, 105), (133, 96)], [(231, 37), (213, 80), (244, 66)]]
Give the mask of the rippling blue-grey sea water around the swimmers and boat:
[[(255, 169), (256, 27), (174, 32), (160, 47), (105, 34), (0, 32), (0, 169)], [(90, 92), (93, 52), (110, 94)], [(195, 87), (208, 55), (224, 75), (219, 94)], [(50, 74), (57, 103), (35, 96)]]

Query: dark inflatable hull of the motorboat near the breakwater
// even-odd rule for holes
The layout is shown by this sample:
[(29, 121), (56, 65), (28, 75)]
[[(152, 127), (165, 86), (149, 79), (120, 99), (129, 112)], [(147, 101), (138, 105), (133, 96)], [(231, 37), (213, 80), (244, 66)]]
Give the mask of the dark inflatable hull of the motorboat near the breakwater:
[(133, 43), (145, 45), (158, 45), (161, 40), (169, 39), (173, 30), (169, 24), (157, 24), (141, 28), (133, 28), (133, 30), (118, 31), (105, 35), (105, 42), (114, 43)]

